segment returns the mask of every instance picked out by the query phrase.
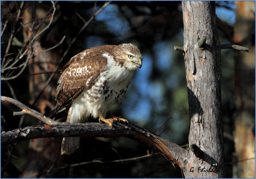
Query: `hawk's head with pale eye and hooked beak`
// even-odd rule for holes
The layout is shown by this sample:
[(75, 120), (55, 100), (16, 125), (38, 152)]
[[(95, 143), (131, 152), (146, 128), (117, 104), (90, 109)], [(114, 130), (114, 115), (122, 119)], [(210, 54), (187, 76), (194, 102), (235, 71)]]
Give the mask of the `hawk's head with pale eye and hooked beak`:
[(118, 47), (122, 51), (120, 55), (125, 68), (131, 71), (141, 68), (143, 56), (138, 47), (131, 43), (122, 43)]

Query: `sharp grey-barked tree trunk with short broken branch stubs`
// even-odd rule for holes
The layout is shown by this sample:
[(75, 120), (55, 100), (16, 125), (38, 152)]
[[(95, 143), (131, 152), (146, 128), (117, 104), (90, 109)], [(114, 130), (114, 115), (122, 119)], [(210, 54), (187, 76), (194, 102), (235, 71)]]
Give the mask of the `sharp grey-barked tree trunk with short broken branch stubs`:
[(220, 178), (224, 155), (215, 3), (182, 1), (182, 9), (190, 121), (187, 171), (193, 178)]

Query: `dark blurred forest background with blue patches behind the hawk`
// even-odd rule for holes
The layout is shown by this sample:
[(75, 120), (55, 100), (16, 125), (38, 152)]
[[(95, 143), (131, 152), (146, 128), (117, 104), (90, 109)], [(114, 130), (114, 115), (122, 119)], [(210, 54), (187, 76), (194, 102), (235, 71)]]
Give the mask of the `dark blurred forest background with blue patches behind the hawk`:
[[(20, 4), (20, 1), (1, 1), (2, 31), (6, 23), (3, 36), (1, 36), (2, 65), (13, 29), (15, 38), (7, 59), (15, 59), (19, 50), (26, 47), (29, 35), (42, 31), (51, 19), (52, 4), (50, 1), (25, 1), (20, 19), (17, 20)], [(161, 134), (162, 137), (186, 148), (189, 121), (184, 58), (182, 52), (173, 49), (175, 45), (183, 46), (181, 2), (113, 1), (77, 36), (84, 21), (88, 21), (93, 12), (99, 10), (103, 4), (103, 1), (98, 1), (96, 4), (95, 1), (58, 1), (55, 4), (56, 12), (51, 26), (33, 42), (35, 51), (40, 52), (35, 52), (35, 56), (29, 59), (28, 66), (20, 75), (12, 80), (1, 80), (1, 95), (17, 98), (20, 102), (48, 115), (55, 105), (54, 95), (60, 74), (57, 72), (54, 75), (42, 95), (40, 91), (44, 89), (46, 81), (52, 74), (49, 72), (56, 70), (61, 58), (63, 61), (60, 66), (63, 66), (72, 56), (88, 47), (134, 43), (143, 53), (143, 66), (134, 75), (122, 103), (113, 105), (111, 113), (115, 116), (122, 116), (129, 122), (147, 128), (156, 134)], [(236, 20), (244, 22), (244, 26), (255, 29), (255, 24), (253, 26), (252, 23), (255, 20), (236, 19), (234, 1), (216, 2), (216, 15), (221, 43), (234, 42)], [(252, 31), (255, 30), (252, 29)], [(51, 51), (45, 51), (58, 44), (63, 36), (65, 36), (63, 43)], [(67, 51), (68, 45), (75, 37), (77, 37), (76, 41)], [(246, 38), (250, 41), (250, 47), (254, 48), (255, 33), (249, 34)], [(63, 56), (65, 52), (67, 55)], [(250, 51), (250, 54), (248, 58), (253, 62), (249, 66), (255, 70), (254, 49)], [(236, 54), (230, 49), (221, 51), (221, 100), (227, 177), (240, 176), (237, 174), (239, 169), (236, 168), (237, 156), (234, 155), (237, 70), (234, 56)], [(25, 59), (26, 56), (17, 65), (22, 65)], [(10, 62), (12, 63), (13, 61)], [(1, 67), (1, 77), (10, 77), (20, 72), (20, 68), (3, 71), (4, 66)], [(255, 75), (252, 75), (250, 85), (254, 86), (254, 84)], [(254, 88), (252, 93), (254, 94)], [(254, 96), (252, 101), (254, 104)], [(22, 118), (13, 116), (13, 111), (19, 111), (19, 109), (6, 103), (1, 105), (2, 131), (38, 124), (38, 121), (31, 116)], [(254, 126), (255, 112), (252, 111), (249, 115), (253, 119), (250, 125)], [(4, 178), (182, 177), (179, 167), (175, 167), (161, 155), (131, 139), (123, 137), (81, 139), (79, 150), (70, 156), (58, 158), (60, 142), (61, 139), (35, 139), (10, 146), (1, 146), (1, 176)], [(154, 153), (154, 155), (129, 162), (113, 161), (140, 157), (147, 153)], [(95, 159), (104, 163), (90, 162)], [(88, 164), (81, 162), (88, 162)], [(79, 163), (81, 164), (70, 166)], [(65, 167), (58, 169), (62, 166)], [(49, 169), (51, 171), (47, 173)]]

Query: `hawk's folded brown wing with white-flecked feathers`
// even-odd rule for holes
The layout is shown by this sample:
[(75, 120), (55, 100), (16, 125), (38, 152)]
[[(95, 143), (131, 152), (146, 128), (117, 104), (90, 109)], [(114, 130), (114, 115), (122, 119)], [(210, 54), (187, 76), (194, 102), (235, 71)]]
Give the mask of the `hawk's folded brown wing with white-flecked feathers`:
[(58, 81), (55, 98), (57, 105), (52, 111), (53, 115), (70, 105), (84, 89), (92, 86), (108, 63), (102, 54), (108, 52), (113, 56), (111, 53), (113, 47), (113, 45), (104, 45), (86, 49), (68, 61)]

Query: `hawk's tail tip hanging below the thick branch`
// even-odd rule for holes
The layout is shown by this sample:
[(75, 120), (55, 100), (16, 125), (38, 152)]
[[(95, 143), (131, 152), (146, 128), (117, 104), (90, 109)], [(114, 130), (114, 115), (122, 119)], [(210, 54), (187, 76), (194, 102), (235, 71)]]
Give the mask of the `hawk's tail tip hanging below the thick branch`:
[(61, 143), (61, 155), (75, 152), (79, 148), (80, 137), (63, 137)]

